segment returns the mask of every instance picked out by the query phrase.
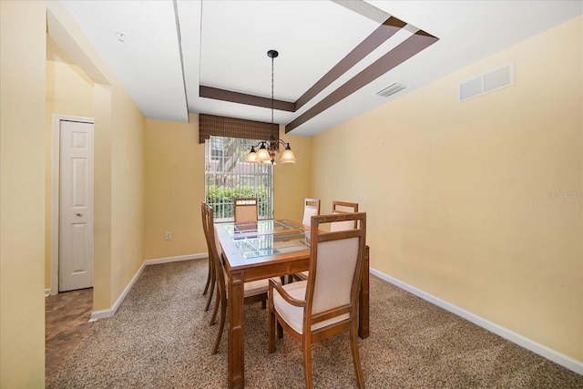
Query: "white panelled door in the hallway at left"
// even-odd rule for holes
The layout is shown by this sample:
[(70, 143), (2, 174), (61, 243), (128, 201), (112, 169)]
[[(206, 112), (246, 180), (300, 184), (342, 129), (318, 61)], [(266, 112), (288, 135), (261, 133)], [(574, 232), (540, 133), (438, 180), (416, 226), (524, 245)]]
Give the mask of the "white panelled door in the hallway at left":
[(59, 292), (93, 286), (93, 124), (60, 121)]

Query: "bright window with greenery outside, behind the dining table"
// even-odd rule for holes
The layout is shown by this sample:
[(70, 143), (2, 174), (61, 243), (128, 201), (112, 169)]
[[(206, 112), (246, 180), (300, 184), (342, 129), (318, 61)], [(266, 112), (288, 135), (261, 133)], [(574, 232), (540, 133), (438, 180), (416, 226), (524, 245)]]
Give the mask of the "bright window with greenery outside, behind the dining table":
[(233, 199), (256, 197), (259, 219), (273, 217), (271, 164), (246, 163), (259, 140), (210, 136), (205, 141), (205, 199), (215, 220), (234, 220)]

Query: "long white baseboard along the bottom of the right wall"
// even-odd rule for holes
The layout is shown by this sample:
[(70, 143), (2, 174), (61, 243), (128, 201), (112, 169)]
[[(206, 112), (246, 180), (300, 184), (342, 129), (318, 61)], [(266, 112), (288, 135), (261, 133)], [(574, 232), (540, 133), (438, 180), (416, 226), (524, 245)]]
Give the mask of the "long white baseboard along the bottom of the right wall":
[(496, 335), (499, 335), (512, 343), (516, 343), (519, 346), (524, 347), (533, 353), (537, 353), (538, 355), (540, 355), (544, 358), (547, 358), (548, 360), (550, 360), (554, 363), (560, 364), (561, 366), (568, 368), (568, 370), (571, 370), (577, 374), (583, 375), (583, 362), (581, 362), (581, 361), (578, 361), (574, 358), (571, 358), (563, 353), (558, 353), (557, 351), (552, 350), (543, 344), (534, 342), (534, 341), (522, 336), (519, 333), (515, 333), (513, 331), (510, 331), (510, 330), (496, 324), (495, 322), (490, 322), (490, 321), (488, 321), (480, 316), (477, 316), (476, 314), (474, 314), (472, 312), (467, 312), (467, 311), (455, 306), (454, 304), (451, 304), (449, 302), (445, 302), (444, 300), (438, 299), (437, 297), (435, 297), (429, 293), (423, 292), (423, 291), (415, 288), (414, 286), (409, 285), (408, 283), (401, 282), (401, 281), (399, 281), (399, 280), (397, 280), (389, 275), (384, 274), (381, 271), (376, 271), (374, 269), (371, 269), (371, 274), (379, 277), (380, 279), (382, 279), (386, 282), (390, 282), (390, 283), (394, 284), (395, 286), (397, 286), (397, 287), (399, 287), (407, 292), (411, 292), (415, 296), (420, 297), (427, 302), (431, 302), (431, 303), (437, 305), (438, 307), (445, 309), (445, 311), (452, 312), (455, 315), (464, 318), (468, 322), (473, 322), (474, 324), (486, 329), (487, 331), (489, 331), (491, 333), (496, 333)]

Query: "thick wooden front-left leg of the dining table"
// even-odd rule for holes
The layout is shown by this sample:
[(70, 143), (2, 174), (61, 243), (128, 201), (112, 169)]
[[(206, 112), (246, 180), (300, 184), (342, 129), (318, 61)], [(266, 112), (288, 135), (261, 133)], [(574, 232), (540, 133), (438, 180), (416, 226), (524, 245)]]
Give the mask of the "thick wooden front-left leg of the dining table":
[(244, 285), (241, 271), (231, 272), (229, 277), (228, 321), (229, 321), (229, 387), (245, 386), (245, 359), (243, 334)]

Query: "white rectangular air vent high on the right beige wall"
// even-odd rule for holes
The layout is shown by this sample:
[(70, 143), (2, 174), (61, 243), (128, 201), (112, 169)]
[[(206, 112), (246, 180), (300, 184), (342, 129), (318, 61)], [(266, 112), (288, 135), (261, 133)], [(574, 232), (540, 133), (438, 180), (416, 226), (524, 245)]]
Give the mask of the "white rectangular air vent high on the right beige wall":
[(504, 67), (498, 67), (459, 84), (457, 101), (465, 101), (469, 98), (493, 92), (502, 87), (514, 84), (514, 63)]

